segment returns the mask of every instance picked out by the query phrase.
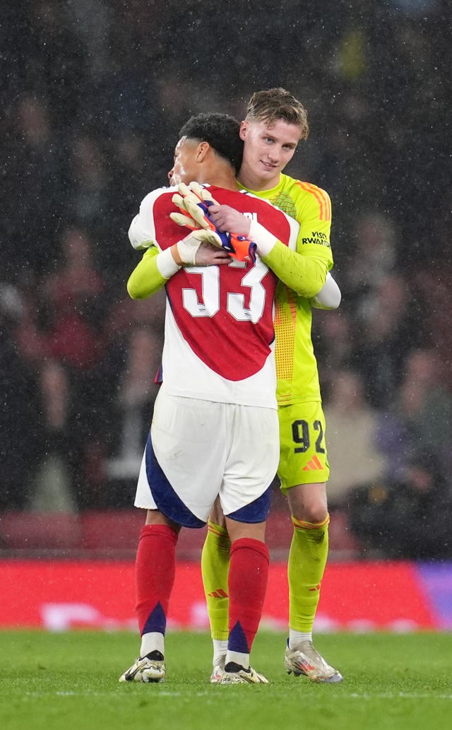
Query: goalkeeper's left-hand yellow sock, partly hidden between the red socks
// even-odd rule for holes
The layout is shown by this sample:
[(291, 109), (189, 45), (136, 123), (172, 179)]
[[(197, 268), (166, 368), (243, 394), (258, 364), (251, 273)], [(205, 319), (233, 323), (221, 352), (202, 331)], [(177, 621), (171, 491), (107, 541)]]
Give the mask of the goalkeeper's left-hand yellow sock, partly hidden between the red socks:
[(229, 634), (227, 626), (229, 564), (230, 539), (227, 529), (209, 520), (207, 537), (201, 553), (201, 574), (212, 639), (227, 639)]

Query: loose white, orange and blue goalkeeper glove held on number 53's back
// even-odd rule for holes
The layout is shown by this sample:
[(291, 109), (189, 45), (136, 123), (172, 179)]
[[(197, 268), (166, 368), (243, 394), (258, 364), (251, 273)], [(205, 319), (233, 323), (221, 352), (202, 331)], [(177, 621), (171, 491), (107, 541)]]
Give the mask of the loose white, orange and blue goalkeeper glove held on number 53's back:
[[(256, 261), (256, 244), (246, 236), (219, 231), (209, 217), (209, 206), (218, 205), (209, 191), (199, 183), (178, 185), (179, 193), (173, 196), (173, 202), (182, 210), (181, 213), (170, 213), (171, 220), (179, 226), (187, 226), (192, 231), (201, 228), (210, 234), (209, 243), (224, 248), (237, 261)], [(188, 213), (189, 215), (184, 215)]]

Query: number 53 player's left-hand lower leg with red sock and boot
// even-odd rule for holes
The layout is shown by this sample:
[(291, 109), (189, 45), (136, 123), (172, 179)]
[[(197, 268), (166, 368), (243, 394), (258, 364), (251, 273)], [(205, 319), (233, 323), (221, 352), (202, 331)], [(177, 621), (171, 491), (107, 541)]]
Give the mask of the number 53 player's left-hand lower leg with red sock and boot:
[(176, 570), (180, 527), (159, 510), (148, 510), (136, 553), (136, 613), (140, 656), (120, 682), (163, 682), (168, 603)]

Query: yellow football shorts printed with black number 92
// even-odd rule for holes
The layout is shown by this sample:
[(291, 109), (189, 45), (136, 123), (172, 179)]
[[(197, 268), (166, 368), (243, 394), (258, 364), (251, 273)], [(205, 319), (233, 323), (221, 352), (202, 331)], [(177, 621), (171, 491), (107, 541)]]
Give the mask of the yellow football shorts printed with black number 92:
[(325, 417), (320, 401), (278, 408), (281, 491), (297, 484), (327, 482), (330, 465), (325, 445)]

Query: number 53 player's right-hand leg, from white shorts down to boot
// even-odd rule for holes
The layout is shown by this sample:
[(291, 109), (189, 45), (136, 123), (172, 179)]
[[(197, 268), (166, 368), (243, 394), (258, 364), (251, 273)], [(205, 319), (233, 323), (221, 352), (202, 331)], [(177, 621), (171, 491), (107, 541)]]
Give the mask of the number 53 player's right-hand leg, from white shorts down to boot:
[(222, 683), (265, 683), (250, 666), (268, 583), (265, 520), (278, 465), (278, 418), (265, 408), (229, 409), (230, 439), (219, 498), (230, 536), (229, 634)]

